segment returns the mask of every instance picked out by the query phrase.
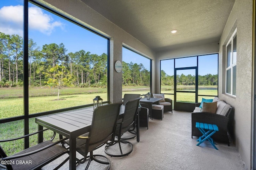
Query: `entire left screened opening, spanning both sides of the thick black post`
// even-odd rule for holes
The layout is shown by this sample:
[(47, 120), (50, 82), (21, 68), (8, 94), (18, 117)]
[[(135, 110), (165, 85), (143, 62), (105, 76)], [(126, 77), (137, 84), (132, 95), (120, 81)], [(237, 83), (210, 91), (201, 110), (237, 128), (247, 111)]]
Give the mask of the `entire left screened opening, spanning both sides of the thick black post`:
[[(108, 102), (109, 39), (31, 2), (0, 3), (0, 139), (37, 131), (36, 116), (92, 106), (95, 96)], [(28, 23), (23, 21), (27, 10)], [(17, 129), (18, 136), (10, 136)], [(30, 146), (37, 143), (29, 140)], [(7, 154), (22, 150), (20, 142)]]

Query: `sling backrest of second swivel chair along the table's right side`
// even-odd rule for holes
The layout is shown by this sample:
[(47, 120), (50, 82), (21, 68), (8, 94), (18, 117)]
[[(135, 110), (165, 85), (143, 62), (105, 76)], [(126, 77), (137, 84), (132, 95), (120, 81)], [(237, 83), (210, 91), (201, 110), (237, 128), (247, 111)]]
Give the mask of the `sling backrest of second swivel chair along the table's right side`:
[(126, 102), (124, 117), (122, 119), (123, 123), (121, 125), (121, 133), (128, 131), (136, 120), (136, 113), (139, 107), (140, 99), (141, 98), (135, 98)]

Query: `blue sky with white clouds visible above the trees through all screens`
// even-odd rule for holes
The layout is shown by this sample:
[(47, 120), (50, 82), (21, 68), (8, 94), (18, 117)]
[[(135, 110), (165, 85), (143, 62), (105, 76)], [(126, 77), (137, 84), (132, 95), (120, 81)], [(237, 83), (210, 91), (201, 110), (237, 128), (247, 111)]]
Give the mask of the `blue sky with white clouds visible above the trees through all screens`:
[[(0, 0), (0, 32), (23, 36), (23, 0)], [(102, 55), (107, 53), (107, 39), (92, 33), (70, 21), (64, 20), (42, 8), (29, 3), (29, 38), (42, 48), (45, 44), (63, 43), (67, 53), (84, 50), (91, 54)], [(150, 60), (123, 48), (123, 61), (126, 63), (142, 63), (150, 70)], [(199, 57), (199, 75), (218, 74), (216, 57)], [(196, 66), (194, 57), (176, 60), (176, 67)], [(174, 64), (171, 61), (162, 61), (161, 69), (167, 74), (174, 74)], [(193, 74), (191, 70), (183, 74)]]

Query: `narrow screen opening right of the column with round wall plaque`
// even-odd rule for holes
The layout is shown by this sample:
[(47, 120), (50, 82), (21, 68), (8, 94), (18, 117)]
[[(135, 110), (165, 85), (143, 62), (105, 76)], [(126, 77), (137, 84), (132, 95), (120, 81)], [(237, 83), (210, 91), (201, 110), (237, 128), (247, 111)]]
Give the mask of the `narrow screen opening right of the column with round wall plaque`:
[(122, 96), (147, 94), (151, 85), (151, 60), (130, 50), (122, 48)]

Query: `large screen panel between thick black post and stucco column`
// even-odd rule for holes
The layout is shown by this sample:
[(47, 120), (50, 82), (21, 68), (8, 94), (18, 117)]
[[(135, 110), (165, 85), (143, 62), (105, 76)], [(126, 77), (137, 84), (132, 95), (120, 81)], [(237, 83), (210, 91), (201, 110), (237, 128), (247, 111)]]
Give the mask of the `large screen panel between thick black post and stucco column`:
[(108, 39), (34, 4), (28, 12), (40, 15), (28, 23), (29, 112), (108, 101)]

